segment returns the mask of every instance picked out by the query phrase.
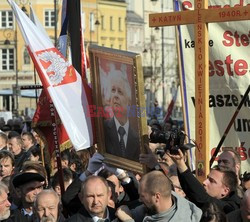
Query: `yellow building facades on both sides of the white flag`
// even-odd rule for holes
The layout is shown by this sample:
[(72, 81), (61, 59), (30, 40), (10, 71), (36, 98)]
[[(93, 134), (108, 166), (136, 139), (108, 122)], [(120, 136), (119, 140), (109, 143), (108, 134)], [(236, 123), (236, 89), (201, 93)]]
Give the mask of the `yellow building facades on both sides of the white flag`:
[[(29, 2), (47, 34), (55, 42), (61, 29), (62, 0), (16, 0), (27, 16), (30, 15)], [(86, 45), (98, 44), (126, 50), (126, 2), (82, 0), (81, 4)], [(27, 114), (27, 110), (34, 111), (37, 101), (35, 90), (21, 91), (20, 87), (35, 84), (40, 84), (39, 77), (34, 70), (15, 17), (7, 1), (1, 1), (0, 111), (22, 115)]]

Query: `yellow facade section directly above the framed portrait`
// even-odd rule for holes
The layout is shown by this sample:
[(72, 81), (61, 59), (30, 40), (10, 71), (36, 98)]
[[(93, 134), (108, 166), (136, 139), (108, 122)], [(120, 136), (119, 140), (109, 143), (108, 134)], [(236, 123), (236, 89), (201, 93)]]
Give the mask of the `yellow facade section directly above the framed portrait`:
[(126, 50), (126, 8), (123, 0), (82, 0), (85, 44)]

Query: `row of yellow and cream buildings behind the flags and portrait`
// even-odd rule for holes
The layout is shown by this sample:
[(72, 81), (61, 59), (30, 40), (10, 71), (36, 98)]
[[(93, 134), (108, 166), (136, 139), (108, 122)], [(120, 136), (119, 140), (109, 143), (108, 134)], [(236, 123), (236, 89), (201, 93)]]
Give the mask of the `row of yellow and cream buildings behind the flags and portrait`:
[[(56, 5), (54, 3), (57, 3)], [(16, 3), (29, 16), (27, 1)], [(31, 0), (41, 24), (55, 41), (60, 33), (62, 0)], [(149, 28), (150, 13), (173, 10), (163, 0), (81, 0), (86, 48), (90, 44), (140, 53), (147, 107), (166, 111), (178, 85), (174, 27)], [(0, 110), (25, 114), (36, 108), (35, 90), (20, 86), (40, 84), (20, 30), (7, 1), (0, 2)]]

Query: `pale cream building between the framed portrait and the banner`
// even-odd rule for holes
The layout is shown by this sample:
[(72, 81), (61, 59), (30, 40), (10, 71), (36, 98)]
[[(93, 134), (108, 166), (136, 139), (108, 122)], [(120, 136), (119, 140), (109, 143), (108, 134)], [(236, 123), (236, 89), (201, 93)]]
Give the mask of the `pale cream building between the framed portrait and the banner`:
[[(146, 105), (151, 110), (158, 104), (163, 111), (160, 114), (162, 118), (179, 84), (175, 28), (150, 28), (149, 14), (173, 11), (173, 1), (127, 0), (127, 3), (128, 11), (134, 12), (144, 21), (143, 47), (139, 47), (140, 51), (130, 49), (142, 55)], [(133, 32), (128, 32), (128, 42), (134, 38), (133, 35)], [(180, 107), (181, 103), (177, 105)], [(181, 109), (176, 109), (174, 115), (179, 116)]]

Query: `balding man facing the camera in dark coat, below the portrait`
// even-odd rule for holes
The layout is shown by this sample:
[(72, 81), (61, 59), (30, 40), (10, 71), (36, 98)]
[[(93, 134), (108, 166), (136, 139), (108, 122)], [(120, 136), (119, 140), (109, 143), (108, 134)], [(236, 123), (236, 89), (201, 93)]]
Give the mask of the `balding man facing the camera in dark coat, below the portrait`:
[(104, 178), (89, 176), (82, 183), (79, 197), (83, 207), (67, 222), (93, 222), (100, 219), (116, 220), (115, 209), (108, 207), (111, 192)]

